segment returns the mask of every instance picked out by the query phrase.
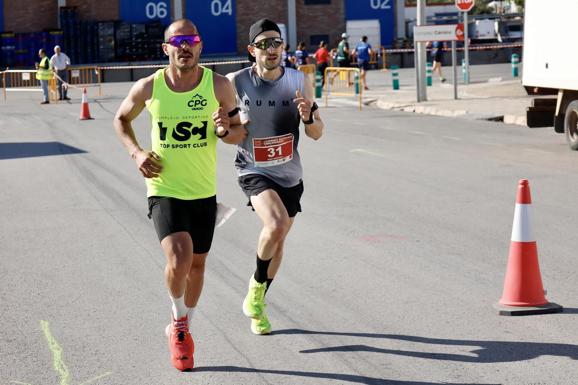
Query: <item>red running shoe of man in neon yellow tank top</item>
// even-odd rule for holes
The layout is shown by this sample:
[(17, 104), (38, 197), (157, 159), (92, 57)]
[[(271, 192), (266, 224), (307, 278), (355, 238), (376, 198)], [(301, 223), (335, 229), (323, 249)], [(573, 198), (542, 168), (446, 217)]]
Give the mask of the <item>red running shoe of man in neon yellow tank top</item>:
[(180, 371), (192, 369), (192, 355), (195, 353), (195, 343), (188, 332), (188, 316), (175, 320), (171, 313), (171, 317), (173, 321), (168, 328), (171, 362)]

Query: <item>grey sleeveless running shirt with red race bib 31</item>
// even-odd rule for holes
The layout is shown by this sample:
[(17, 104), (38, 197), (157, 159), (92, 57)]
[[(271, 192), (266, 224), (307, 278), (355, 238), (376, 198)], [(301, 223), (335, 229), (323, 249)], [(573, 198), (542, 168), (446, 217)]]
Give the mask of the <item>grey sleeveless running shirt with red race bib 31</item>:
[(301, 182), (303, 169), (297, 151), (301, 117), (295, 91), (305, 95), (303, 72), (283, 67), (275, 82), (258, 76), (253, 68), (235, 72), (237, 106), (249, 134), (237, 146), (237, 175), (260, 174), (292, 187)]

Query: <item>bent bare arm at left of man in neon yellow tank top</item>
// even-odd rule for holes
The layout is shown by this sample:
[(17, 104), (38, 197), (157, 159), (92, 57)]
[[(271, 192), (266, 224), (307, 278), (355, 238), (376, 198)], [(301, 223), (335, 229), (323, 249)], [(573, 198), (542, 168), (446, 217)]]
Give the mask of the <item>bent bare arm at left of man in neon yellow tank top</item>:
[(147, 178), (158, 177), (162, 166), (154, 162), (153, 158), (157, 161), (161, 161), (161, 158), (154, 151), (145, 151), (140, 148), (136, 141), (135, 132), (132, 130), (131, 121), (139, 116), (146, 106), (146, 101), (153, 97), (153, 82), (154, 75), (138, 80), (132, 86), (128, 97), (124, 99), (114, 117), (114, 129), (118, 139), (135, 160), (140, 173)]

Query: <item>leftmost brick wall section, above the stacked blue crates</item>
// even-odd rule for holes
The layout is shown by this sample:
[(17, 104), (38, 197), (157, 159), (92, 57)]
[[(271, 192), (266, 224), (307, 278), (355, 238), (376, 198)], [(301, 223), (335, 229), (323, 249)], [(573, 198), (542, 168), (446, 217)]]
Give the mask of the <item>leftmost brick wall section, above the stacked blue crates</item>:
[(16, 34), (39, 32), (58, 27), (57, 0), (3, 1), (4, 29)]

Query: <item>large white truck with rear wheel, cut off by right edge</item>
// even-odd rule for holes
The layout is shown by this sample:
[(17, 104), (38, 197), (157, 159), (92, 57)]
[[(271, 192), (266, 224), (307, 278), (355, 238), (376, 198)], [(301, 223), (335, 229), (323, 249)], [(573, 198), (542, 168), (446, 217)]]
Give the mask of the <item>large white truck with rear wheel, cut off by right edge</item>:
[(522, 84), (536, 98), (527, 109), (528, 127), (564, 132), (578, 150), (578, 1), (526, 0), (524, 4), (524, 71)]

